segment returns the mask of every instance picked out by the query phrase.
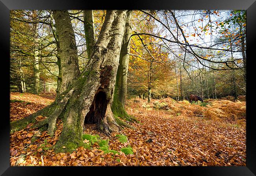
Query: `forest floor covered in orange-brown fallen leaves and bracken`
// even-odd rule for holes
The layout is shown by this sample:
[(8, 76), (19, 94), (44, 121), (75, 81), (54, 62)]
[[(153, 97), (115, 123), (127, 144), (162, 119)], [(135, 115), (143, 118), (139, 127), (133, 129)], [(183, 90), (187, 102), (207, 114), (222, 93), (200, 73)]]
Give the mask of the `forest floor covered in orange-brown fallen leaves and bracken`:
[[(50, 99), (49, 99), (50, 98)], [(10, 121), (22, 119), (54, 101), (29, 93), (10, 93)], [(108, 140), (108, 149), (100, 150), (99, 143), (91, 149), (80, 147), (70, 153), (56, 154), (51, 149), (63, 128), (58, 120), (53, 137), (47, 132), (32, 129), (10, 135), (11, 166), (245, 166), (246, 165), (246, 102), (208, 99), (204, 103), (189, 104), (171, 98), (127, 100), (128, 114), (139, 123), (128, 122), (134, 127), (107, 137), (95, 125), (85, 125), (84, 133), (99, 135)], [(40, 121), (45, 117), (38, 116)], [(101, 140), (101, 141), (102, 141)], [(121, 152), (131, 147), (133, 154)], [(124, 151), (124, 150), (122, 150)]]

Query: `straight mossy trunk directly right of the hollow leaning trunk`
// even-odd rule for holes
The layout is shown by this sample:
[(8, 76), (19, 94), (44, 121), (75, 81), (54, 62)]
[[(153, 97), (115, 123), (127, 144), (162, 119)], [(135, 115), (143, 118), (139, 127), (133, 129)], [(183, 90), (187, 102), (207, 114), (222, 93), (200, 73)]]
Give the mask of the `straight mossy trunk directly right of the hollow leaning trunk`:
[(117, 79), (115, 83), (114, 99), (111, 109), (113, 114), (122, 119), (133, 121), (133, 118), (126, 113), (126, 89), (127, 89), (127, 74), (130, 57), (130, 37), (132, 35), (132, 26), (130, 23), (132, 11), (128, 11), (125, 23), (125, 34), (122, 43), (122, 48), (119, 57), (119, 66), (117, 70)]

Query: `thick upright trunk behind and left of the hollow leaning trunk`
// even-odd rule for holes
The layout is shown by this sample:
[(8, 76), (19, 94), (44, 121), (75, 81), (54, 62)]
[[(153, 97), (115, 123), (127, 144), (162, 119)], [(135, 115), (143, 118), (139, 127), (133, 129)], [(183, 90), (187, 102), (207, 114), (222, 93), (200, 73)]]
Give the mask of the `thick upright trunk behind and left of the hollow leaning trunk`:
[(62, 85), (59, 93), (67, 91), (80, 75), (74, 30), (67, 10), (53, 10), (58, 32)]

